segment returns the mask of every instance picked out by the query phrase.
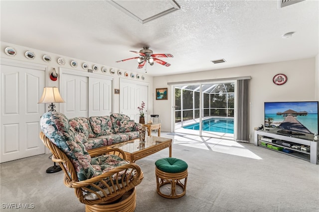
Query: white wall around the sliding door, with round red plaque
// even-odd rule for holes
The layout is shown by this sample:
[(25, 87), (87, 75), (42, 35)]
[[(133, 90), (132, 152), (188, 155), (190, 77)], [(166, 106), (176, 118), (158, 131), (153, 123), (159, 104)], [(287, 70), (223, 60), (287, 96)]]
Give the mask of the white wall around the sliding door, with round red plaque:
[[(172, 91), (171, 87), (167, 86), (167, 83), (251, 76), (250, 142), (253, 142), (254, 127), (264, 124), (264, 102), (318, 100), (318, 95), (315, 95), (316, 86), (318, 87), (318, 70), (316, 72), (315, 66), (316, 58), (309, 58), (154, 77), (154, 89), (167, 87), (169, 95), (168, 100), (154, 100), (154, 113), (160, 115), (161, 129), (163, 131), (171, 131), (173, 127), (171, 118), (174, 114), (172, 114), (171, 105)], [(288, 78), (287, 82), (281, 86), (273, 83), (273, 77), (279, 73), (285, 74)], [(317, 79), (315, 80), (316, 74)]]

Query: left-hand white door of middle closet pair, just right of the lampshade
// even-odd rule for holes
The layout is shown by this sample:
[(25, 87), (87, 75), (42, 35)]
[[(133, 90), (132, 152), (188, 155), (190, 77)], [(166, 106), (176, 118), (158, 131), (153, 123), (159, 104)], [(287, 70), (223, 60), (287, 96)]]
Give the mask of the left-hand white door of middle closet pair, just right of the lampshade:
[(61, 112), (69, 119), (88, 117), (88, 77), (63, 73), (61, 83), (60, 93), (65, 101), (60, 104)]

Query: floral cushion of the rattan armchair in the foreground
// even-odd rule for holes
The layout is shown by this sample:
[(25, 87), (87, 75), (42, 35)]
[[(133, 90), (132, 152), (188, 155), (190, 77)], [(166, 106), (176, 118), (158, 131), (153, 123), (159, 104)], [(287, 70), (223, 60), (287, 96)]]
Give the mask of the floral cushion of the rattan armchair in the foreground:
[[(91, 158), (81, 142), (81, 139), (86, 139), (86, 137), (83, 133), (76, 133), (62, 113), (44, 113), (41, 116), (40, 125), (45, 136), (70, 158), (79, 181), (90, 179), (115, 167), (129, 163), (117, 155), (101, 155)], [(125, 178), (129, 173), (122, 173), (118, 179), (114, 175), (112, 180), (114, 182), (121, 180), (123, 176)], [(111, 185), (110, 181), (107, 183), (109, 186)], [(97, 186), (106, 187), (106, 185), (98, 185), (98, 183)], [(94, 190), (95, 188), (92, 187), (90, 189)]]

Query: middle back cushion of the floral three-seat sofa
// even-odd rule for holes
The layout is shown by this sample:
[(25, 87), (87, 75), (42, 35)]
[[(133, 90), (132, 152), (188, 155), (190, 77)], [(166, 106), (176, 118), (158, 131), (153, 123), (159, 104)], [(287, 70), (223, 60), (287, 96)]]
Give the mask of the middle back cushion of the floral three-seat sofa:
[(95, 137), (114, 133), (110, 116), (91, 116), (89, 120)]

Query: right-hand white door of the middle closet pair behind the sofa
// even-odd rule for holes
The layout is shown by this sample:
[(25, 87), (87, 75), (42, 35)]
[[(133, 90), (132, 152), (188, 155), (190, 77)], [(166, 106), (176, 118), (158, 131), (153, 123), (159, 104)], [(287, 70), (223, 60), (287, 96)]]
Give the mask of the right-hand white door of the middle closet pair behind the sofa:
[(89, 116), (112, 113), (112, 81), (89, 78)]

